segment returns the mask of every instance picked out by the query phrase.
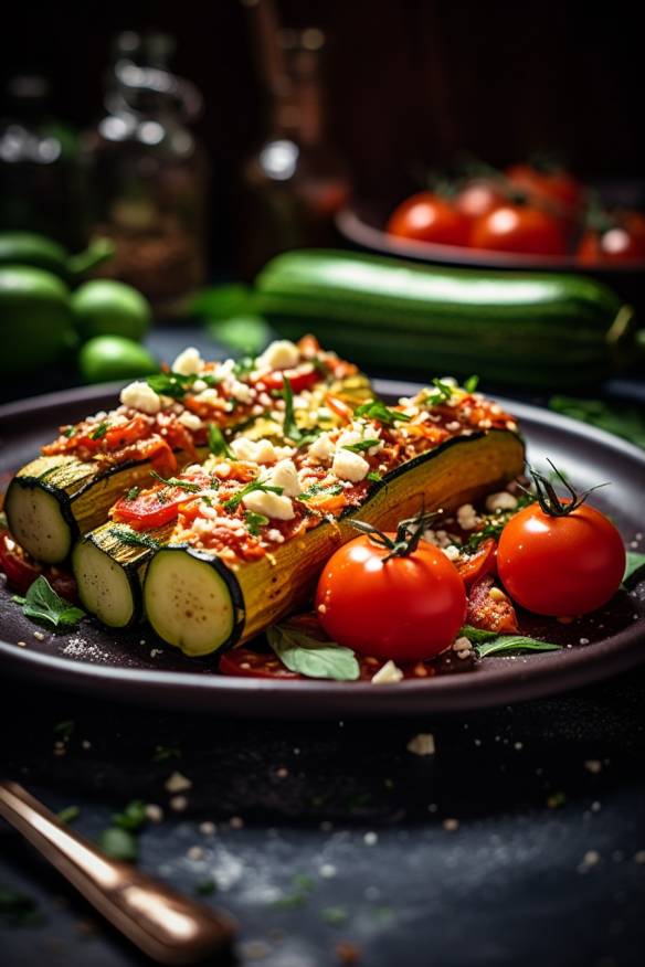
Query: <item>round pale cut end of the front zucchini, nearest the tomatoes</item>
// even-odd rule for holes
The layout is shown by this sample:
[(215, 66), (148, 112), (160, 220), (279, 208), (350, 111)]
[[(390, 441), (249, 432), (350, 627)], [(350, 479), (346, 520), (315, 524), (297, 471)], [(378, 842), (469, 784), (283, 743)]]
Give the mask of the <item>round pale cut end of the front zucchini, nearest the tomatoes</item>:
[(198, 658), (239, 637), (234, 578), (221, 573), (216, 559), (187, 548), (158, 551), (146, 573), (144, 605), (155, 631)]

